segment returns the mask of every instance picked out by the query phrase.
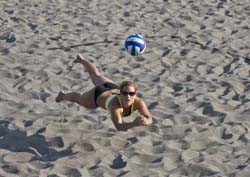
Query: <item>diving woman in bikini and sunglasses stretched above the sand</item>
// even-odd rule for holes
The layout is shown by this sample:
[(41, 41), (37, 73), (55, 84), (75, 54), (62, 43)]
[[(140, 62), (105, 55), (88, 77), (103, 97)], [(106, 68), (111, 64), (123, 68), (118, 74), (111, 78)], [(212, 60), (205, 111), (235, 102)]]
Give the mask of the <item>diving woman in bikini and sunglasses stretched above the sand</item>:
[[(101, 75), (97, 67), (86, 61), (80, 54), (77, 55), (74, 63), (84, 66), (95, 87), (82, 95), (75, 92), (59, 92), (55, 99), (56, 102), (67, 100), (89, 109), (102, 107), (109, 110), (112, 121), (119, 131), (127, 131), (133, 127), (152, 123), (146, 104), (136, 96), (135, 83), (124, 81), (120, 87), (117, 86), (113, 81)], [(135, 110), (138, 110), (140, 115), (133, 122), (124, 122), (123, 117), (129, 116)]]

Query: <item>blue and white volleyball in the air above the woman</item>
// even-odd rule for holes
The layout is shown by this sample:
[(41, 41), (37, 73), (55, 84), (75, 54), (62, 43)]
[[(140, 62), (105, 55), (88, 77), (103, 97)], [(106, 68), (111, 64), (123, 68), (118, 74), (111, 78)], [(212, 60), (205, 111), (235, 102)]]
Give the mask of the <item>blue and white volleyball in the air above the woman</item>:
[(140, 34), (129, 35), (125, 40), (125, 49), (132, 56), (142, 54), (146, 49), (144, 37)]

